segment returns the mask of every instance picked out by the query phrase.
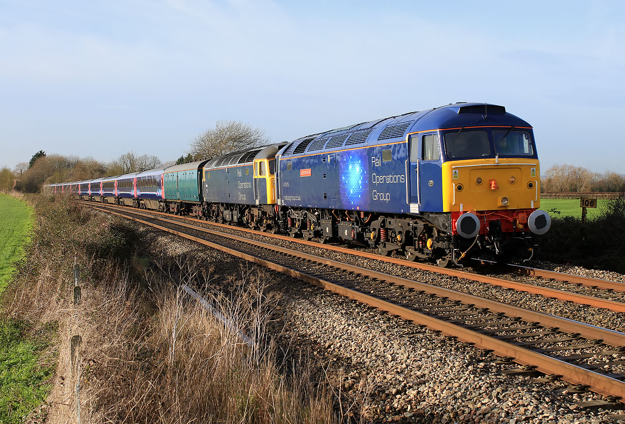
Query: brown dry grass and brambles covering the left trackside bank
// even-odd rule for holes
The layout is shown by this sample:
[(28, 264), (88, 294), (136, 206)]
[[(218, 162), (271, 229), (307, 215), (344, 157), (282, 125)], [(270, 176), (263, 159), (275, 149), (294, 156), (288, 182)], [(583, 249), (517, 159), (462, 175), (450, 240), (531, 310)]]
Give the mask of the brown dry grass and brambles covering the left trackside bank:
[[(210, 264), (192, 256), (138, 266), (131, 229), (55, 200), (37, 206), (29, 260), (4, 293), (5, 315), (32, 332), (58, 323), (51, 395), (27, 422), (331, 423), (336, 396), (311, 367), (279, 363), (268, 325), (277, 297), (266, 276), (245, 268), (206, 295), (230, 325), (189, 297), (179, 283), (218, 287)], [(47, 201), (49, 202), (49, 201)], [(93, 231), (94, 228), (98, 232)], [(113, 241), (111, 241), (113, 239)], [(72, 266), (81, 266), (83, 302), (73, 304)], [(141, 271), (141, 272), (140, 272)], [(275, 323), (271, 324), (275, 327)], [(244, 330), (254, 343), (239, 337)], [(81, 336), (73, 359), (71, 340)]]

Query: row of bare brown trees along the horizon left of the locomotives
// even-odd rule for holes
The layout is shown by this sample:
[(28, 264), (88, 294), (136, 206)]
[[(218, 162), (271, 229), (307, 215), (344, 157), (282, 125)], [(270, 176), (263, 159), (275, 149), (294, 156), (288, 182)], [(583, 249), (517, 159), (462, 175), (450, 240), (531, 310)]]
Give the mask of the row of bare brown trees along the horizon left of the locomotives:
[(105, 163), (93, 157), (47, 155), (39, 150), (28, 162), (18, 163), (13, 170), (7, 166), (0, 169), (0, 191), (8, 193), (15, 188), (26, 193), (36, 193), (46, 184), (91, 180), (188, 163), (267, 143), (269, 139), (260, 128), (239, 121), (217, 121), (214, 128), (191, 140), (186, 155), (176, 161), (162, 162), (154, 155), (128, 152)]

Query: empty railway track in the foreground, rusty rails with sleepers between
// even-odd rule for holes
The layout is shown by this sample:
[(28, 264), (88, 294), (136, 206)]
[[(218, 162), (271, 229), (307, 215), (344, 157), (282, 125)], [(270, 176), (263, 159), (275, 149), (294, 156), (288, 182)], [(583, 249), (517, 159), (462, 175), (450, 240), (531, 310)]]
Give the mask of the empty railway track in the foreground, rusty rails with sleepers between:
[(427, 325), (522, 365), (621, 401), (625, 334), (141, 211), (89, 205), (183, 236)]

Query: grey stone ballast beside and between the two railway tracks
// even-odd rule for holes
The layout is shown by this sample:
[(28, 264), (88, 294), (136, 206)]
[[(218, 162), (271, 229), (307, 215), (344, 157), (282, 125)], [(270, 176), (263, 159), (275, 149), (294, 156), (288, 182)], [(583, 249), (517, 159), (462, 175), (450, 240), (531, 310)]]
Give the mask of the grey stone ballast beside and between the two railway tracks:
[[(138, 228), (146, 254), (153, 260), (164, 254), (192, 253), (219, 271), (216, 285), (220, 280), (226, 284), (229, 273), (253, 267), (177, 236), (132, 225)], [(623, 328), (622, 317), (606, 316), (605, 311), (484, 284), (478, 287), (466, 280), (349, 254), (326, 253), (309, 246), (300, 249), (516, 306)], [(483, 350), (291, 277), (262, 272), (271, 276), (274, 284), (270, 288), (281, 295), (279, 319), (271, 327), (271, 337), (279, 341), (285, 357), (305, 358), (316, 364), (313, 378), (329, 382), (332, 390), (340, 392), (342, 401), (337, 408), (348, 416), (351, 413), (354, 422), (613, 422), (609, 415), (614, 412), (582, 411), (576, 405), (601, 398), (594, 393), (567, 393), (562, 382), (506, 377), (501, 371), (514, 366), (497, 364), (497, 358)]]

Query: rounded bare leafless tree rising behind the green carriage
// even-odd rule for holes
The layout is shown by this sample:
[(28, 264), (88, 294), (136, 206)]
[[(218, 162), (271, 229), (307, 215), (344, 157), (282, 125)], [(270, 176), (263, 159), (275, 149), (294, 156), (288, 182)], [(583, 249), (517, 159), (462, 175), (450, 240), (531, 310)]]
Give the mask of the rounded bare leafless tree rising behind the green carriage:
[(194, 160), (201, 160), (267, 143), (269, 139), (260, 128), (239, 121), (217, 121), (215, 128), (191, 142), (188, 153)]

